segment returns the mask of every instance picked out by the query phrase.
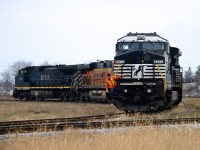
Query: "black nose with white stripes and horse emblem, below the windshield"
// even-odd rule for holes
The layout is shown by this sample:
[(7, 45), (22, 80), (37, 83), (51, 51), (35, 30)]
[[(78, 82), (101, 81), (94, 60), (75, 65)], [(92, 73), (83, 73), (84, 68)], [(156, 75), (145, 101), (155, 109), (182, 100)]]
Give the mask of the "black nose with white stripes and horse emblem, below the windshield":
[(115, 75), (123, 75), (117, 80), (117, 88), (125, 94), (161, 97), (165, 91), (165, 70), (164, 54), (157, 52), (135, 50), (114, 58)]

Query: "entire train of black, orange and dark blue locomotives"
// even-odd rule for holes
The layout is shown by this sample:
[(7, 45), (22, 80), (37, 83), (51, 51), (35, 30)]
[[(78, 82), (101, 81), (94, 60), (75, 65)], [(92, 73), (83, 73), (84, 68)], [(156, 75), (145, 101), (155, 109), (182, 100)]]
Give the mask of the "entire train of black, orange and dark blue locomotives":
[[(126, 112), (157, 111), (182, 100), (181, 51), (156, 33), (128, 33), (112, 60), (89, 64), (30, 66), (19, 70), (13, 96), (20, 99), (102, 100)], [(111, 95), (107, 74), (122, 76)]]

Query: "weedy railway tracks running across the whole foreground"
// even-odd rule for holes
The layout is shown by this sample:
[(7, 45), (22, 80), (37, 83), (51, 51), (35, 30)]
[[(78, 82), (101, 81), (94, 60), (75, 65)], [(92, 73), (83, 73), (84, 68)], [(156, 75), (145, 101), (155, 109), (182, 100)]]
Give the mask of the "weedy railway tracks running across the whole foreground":
[(72, 118), (56, 118), (43, 120), (26, 120), (0, 122), (0, 134), (58, 131), (66, 128), (112, 128), (125, 126), (173, 125), (200, 123), (198, 118), (173, 118), (173, 119), (129, 119), (114, 120), (122, 113), (83, 116)]

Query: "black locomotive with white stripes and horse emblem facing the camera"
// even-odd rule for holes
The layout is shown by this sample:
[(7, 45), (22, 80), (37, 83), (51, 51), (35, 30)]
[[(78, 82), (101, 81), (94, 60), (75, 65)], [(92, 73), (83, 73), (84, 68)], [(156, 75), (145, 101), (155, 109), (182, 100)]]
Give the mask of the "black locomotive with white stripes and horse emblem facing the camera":
[(128, 33), (118, 39), (114, 73), (122, 75), (114, 89), (117, 108), (156, 111), (182, 100), (181, 51), (156, 33)]

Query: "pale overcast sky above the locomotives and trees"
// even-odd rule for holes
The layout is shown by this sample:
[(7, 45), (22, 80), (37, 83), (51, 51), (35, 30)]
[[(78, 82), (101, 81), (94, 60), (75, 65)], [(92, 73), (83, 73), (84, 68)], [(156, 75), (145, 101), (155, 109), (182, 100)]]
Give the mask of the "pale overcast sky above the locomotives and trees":
[(118, 38), (157, 32), (180, 48), (184, 69), (200, 65), (199, 0), (0, 0), (0, 71), (112, 60)]

